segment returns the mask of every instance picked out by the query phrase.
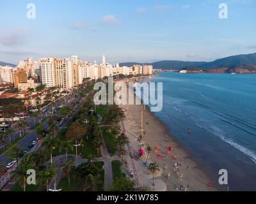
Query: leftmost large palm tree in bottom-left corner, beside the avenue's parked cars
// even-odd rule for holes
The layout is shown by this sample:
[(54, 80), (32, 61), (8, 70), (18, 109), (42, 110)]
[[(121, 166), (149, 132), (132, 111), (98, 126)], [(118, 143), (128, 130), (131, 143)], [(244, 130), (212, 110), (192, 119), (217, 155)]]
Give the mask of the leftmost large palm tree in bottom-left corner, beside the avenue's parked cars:
[(23, 191), (26, 191), (27, 171), (33, 168), (35, 168), (35, 164), (31, 163), (29, 156), (27, 156), (22, 159), (17, 169), (12, 171), (13, 175), (15, 175), (16, 182), (23, 187)]

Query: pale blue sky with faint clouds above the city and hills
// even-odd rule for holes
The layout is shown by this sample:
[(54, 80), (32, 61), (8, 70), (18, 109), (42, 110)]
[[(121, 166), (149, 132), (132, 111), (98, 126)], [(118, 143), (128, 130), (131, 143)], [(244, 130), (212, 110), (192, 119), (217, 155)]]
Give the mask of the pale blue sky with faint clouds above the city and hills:
[[(36, 18), (27, 17), (35, 4)], [(219, 18), (219, 5), (228, 18)], [(1, 0), (0, 61), (213, 61), (256, 52), (255, 0)]]

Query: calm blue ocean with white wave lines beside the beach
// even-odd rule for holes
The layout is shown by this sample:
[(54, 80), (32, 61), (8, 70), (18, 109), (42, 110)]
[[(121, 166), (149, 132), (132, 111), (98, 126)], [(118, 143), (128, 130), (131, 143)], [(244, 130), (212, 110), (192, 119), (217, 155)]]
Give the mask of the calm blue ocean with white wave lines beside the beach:
[[(214, 186), (256, 191), (256, 75), (160, 73), (150, 81), (163, 82), (155, 115)], [(221, 169), (228, 185), (218, 184)]]

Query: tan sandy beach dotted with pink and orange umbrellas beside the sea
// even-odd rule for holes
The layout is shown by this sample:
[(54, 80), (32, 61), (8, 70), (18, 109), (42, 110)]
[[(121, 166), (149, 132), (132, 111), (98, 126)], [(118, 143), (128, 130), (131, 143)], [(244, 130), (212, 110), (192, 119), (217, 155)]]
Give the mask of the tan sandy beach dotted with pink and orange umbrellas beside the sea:
[[(122, 105), (121, 107), (125, 111), (123, 122), (126, 135), (129, 138), (129, 146), (135, 156), (141, 145), (138, 141), (141, 133), (141, 105)], [(143, 149), (148, 146), (152, 147), (147, 163), (156, 162), (160, 171), (156, 173), (153, 186), (153, 175), (145, 166), (147, 159), (147, 150), (145, 150), (143, 158), (138, 161), (133, 159), (140, 186), (148, 186), (154, 191), (216, 191), (214, 187), (207, 186), (211, 179), (197, 167), (195, 161), (189, 159), (188, 152), (173, 140), (163, 122), (147, 108), (143, 111), (143, 131), (147, 133)], [(168, 152), (169, 147), (173, 148), (170, 153)], [(177, 159), (173, 159), (173, 156), (177, 156)], [(179, 164), (179, 169), (175, 169), (175, 164)]]

